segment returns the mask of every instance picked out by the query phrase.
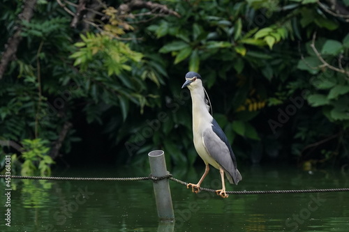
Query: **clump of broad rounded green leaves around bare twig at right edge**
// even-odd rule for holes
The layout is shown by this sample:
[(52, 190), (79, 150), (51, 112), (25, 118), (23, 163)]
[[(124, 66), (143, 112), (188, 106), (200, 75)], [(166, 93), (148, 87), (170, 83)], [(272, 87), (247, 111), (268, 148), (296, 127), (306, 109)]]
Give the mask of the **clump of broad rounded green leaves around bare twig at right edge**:
[(338, 40), (322, 38), (319, 41), (311, 42), (309, 47), (313, 49), (307, 50), (309, 56), (298, 63), (299, 69), (314, 75), (309, 82), (313, 90), (306, 100), (313, 107), (322, 107), (329, 121), (346, 129), (349, 125), (349, 72), (346, 71), (349, 66), (336, 56), (348, 54), (349, 49)]

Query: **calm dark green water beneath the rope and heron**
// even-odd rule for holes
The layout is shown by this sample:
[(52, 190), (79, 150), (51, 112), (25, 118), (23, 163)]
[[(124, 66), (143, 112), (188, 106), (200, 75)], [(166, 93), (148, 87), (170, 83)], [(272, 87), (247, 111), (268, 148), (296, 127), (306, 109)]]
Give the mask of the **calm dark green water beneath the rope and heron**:
[[(204, 167), (170, 170), (196, 183)], [(228, 190), (294, 190), (349, 187), (348, 172), (285, 167), (240, 167), (243, 180)], [(348, 171), (348, 170), (347, 170)], [(86, 167), (52, 176), (148, 176), (149, 169)], [(211, 169), (202, 187), (220, 187)], [(176, 222), (158, 224), (150, 180), (132, 182), (12, 180), (11, 226), (0, 231), (349, 231), (349, 192), (322, 194), (193, 194), (170, 181)], [(228, 182), (227, 182), (228, 184)], [(0, 188), (6, 187), (1, 180)], [(82, 194), (83, 193), (83, 194)], [(85, 196), (84, 198), (82, 196)], [(174, 227), (174, 230), (173, 230)]]

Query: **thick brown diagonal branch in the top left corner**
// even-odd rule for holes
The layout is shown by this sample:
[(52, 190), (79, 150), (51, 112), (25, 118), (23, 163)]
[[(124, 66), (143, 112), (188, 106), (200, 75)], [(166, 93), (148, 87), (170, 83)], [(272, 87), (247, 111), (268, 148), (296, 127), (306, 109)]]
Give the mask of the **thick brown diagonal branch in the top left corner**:
[[(18, 17), (20, 20), (30, 21), (31, 17), (34, 15), (34, 6), (36, 4), (36, 0), (27, 0), (24, 3), (24, 9)], [(17, 52), (18, 45), (20, 45), (20, 41), (22, 40), (22, 26), (18, 26), (17, 31), (13, 36), (8, 38), (8, 42), (5, 45), (5, 51), (2, 54), (1, 62), (0, 62), (0, 79), (2, 79), (3, 74), (6, 71), (8, 63), (12, 61), (13, 57)]]

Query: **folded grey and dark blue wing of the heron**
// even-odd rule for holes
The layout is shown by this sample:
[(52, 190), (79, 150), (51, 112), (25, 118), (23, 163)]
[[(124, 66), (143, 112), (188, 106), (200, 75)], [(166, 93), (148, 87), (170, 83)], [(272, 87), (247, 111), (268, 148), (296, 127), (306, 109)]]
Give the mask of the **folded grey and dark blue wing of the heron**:
[(239, 180), (242, 180), (242, 176), (237, 170), (237, 162), (232, 147), (216, 120), (213, 119), (212, 127), (207, 128), (202, 133), (202, 137), (209, 155), (223, 167), (226, 173), (230, 174), (234, 183), (237, 184)]

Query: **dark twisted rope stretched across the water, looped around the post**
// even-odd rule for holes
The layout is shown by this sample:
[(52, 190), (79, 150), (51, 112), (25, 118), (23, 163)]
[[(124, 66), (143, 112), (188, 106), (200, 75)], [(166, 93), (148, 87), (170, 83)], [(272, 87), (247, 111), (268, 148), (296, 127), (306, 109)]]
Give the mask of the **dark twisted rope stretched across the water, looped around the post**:
[[(144, 177), (126, 177), (126, 178), (114, 178), (114, 177), (54, 177), (54, 176), (6, 176), (0, 175), (0, 178), (10, 177), (13, 179), (27, 179), (27, 180), (92, 180), (92, 181), (126, 181), (126, 180), (153, 180), (154, 182), (158, 180), (170, 179), (181, 185), (188, 185), (188, 183), (178, 180), (172, 177), (172, 174), (165, 176), (144, 176)], [(200, 191), (205, 192), (216, 192), (206, 187), (200, 187)], [(314, 192), (349, 192), (349, 188), (339, 188), (339, 189), (320, 189), (320, 190), (262, 190), (262, 191), (226, 191), (227, 194), (295, 194), (295, 193), (314, 193)]]

